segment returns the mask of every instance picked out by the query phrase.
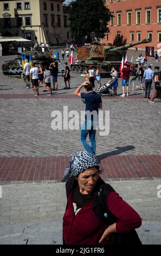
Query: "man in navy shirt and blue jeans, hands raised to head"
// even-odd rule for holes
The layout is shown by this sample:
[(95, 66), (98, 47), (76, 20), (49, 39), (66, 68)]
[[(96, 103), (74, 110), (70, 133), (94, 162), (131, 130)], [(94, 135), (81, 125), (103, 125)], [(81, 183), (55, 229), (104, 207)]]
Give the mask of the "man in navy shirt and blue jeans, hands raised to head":
[[(80, 90), (83, 87), (85, 88), (86, 93), (80, 93)], [(102, 108), (101, 96), (99, 93), (93, 91), (93, 84), (87, 81), (82, 83), (78, 89), (75, 90), (74, 94), (81, 99), (85, 99), (86, 103), (85, 121), (81, 126), (81, 143), (88, 153), (95, 154), (95, 133), (98, 125), (98, 109)], [(91, 147), (86, 141), (88, 134)]]

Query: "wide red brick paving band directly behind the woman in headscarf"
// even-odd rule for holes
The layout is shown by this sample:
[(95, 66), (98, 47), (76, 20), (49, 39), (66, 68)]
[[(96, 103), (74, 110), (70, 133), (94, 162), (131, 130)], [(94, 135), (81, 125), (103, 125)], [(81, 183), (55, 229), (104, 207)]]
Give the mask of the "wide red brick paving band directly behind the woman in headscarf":
[[(61, 180), (70, 157), (0, 157), (0, 181)], [(98, 156), (101, 160), (101, 157)], [(109, 156), (102, 178), (161, 178), (161, 156)]]

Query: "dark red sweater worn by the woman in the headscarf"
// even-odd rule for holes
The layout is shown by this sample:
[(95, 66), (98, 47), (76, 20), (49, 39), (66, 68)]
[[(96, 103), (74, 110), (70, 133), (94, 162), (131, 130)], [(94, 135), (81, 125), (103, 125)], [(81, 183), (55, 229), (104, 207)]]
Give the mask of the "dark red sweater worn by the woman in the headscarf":
[[(93, 212), (93, 201), (83, 205), (78, 214), (74, 214), (72, 204), (73, 192), (69, 194), (68, 205), (63, 216), (63, 240), (66, 245), (98, 245), (107, 225)], [(118, 233), (125, 233), (139, 228), (141, 218), (116, 192), (107, 198), (108, 210), (118, 218)], [(107, 245), (104, 240), (102, 245)]]

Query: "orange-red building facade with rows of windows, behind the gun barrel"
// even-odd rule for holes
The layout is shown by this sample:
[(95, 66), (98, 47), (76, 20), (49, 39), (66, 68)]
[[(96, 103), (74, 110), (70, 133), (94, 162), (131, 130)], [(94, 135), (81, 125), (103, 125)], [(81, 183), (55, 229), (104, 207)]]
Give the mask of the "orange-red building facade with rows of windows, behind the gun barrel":
[(106, 0), (106, 6), (114, 17), (108, 24), (110, 33), (103, 40), (105, 44), (113, 44), (116, 36), (119, 39), (123, 35), (127, 43), (151, 39), (138, 48), (161, 47), (161, 0)]

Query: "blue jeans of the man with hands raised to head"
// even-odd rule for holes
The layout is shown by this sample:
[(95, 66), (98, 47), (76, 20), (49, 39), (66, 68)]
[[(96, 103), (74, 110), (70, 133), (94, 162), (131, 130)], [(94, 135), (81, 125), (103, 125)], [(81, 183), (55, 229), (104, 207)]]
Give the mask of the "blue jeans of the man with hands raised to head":
[[(81, 126), (81, 136), (80, 140), (83, 147), (87, 150), (88, 153), (95, 154), (96, 142), (95, 142), (95, 133), (96, 133), (97, 123), (91, 120), (85, 120)], [(89, 134), (89, 141), (91, 142), (91, 147), (86, 141), (87, 135)]]

